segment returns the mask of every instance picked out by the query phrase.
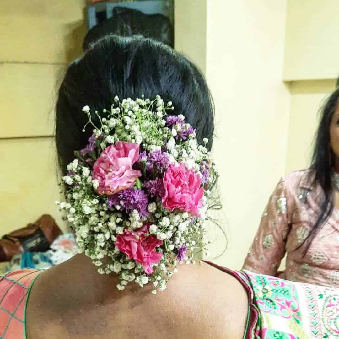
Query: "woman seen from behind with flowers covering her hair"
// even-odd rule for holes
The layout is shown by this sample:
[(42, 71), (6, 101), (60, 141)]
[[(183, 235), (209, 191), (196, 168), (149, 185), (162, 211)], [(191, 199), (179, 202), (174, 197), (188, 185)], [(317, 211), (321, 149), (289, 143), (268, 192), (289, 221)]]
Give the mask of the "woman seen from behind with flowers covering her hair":
[(1, 277), (2, 338), (338, 336), (339, 290), (195, 264), (218, 176), (213, 115), (196, 67), (153, 40), (105, 37), (69, 66), (60, 209), (81, 253)]

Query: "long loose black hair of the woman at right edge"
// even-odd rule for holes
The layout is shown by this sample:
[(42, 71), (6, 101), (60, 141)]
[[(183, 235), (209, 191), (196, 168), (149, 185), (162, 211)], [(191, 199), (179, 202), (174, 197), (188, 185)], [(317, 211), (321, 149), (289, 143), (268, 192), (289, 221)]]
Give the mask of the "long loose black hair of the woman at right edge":
[[(313, 184), (319, 183), (323, 191), (323, 200), (316, 223), (313, 225), (307, 237), (305, 253), (320, 228), (326, 222), (333, 211), (333, 190), (331, 186), (331, 171), (333, 151), (331, 149), (330, 126), (333, 114), (338, 106), (339, 88), (337, 88), (325, 101), (321, 110), (321, 119), (315, 137), (315, 146), (312, 156), (310, 180)], [(305, 241), (306, 241), (305, 240)]]

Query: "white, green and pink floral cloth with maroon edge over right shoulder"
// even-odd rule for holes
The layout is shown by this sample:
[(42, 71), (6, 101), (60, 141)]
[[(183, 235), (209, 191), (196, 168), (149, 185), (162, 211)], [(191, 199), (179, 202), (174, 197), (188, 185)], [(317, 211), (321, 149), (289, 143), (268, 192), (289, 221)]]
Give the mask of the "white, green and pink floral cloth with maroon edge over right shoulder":
[(249, 321), (244, 338), (339, 338), (339, 288), (212, 265), (234, 276), (247, 291)]

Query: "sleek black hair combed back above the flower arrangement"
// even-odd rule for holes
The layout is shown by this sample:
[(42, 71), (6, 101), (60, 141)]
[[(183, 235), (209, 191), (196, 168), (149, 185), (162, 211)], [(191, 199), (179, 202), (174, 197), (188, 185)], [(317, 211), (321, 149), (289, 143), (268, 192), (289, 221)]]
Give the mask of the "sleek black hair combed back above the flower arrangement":
[[(155, 40), (133, 36), (106, 36), (72, 62), (59, 89), (56, 105), (56, 145), (62, 172), (92, 134), (82, 107), (93, 112), (110, 108), (113, 98), (153, 99), (159, 94), (172, 101), (172, 114), (183, 114), (196, 128), (199, 142), (214, 134), (214, 105), (204, 77), (190, 61)], [(101, 113), (100, 113), (101, 114)], [(102, 116), (104, 116), (102, 114)], [(94, 122), (95, 115), (92, 116)]]

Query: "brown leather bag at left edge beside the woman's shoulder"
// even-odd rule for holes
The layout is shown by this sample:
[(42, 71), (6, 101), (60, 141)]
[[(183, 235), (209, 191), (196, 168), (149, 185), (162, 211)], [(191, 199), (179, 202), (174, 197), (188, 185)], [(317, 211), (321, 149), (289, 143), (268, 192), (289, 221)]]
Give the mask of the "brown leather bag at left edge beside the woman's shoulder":
[(53, 240), (62, 234), (55, 220), (48, 214), (26, 227), (13, 231), (0, 240), (0, 262), (9, 261), (18, 253), (45, 252)]

